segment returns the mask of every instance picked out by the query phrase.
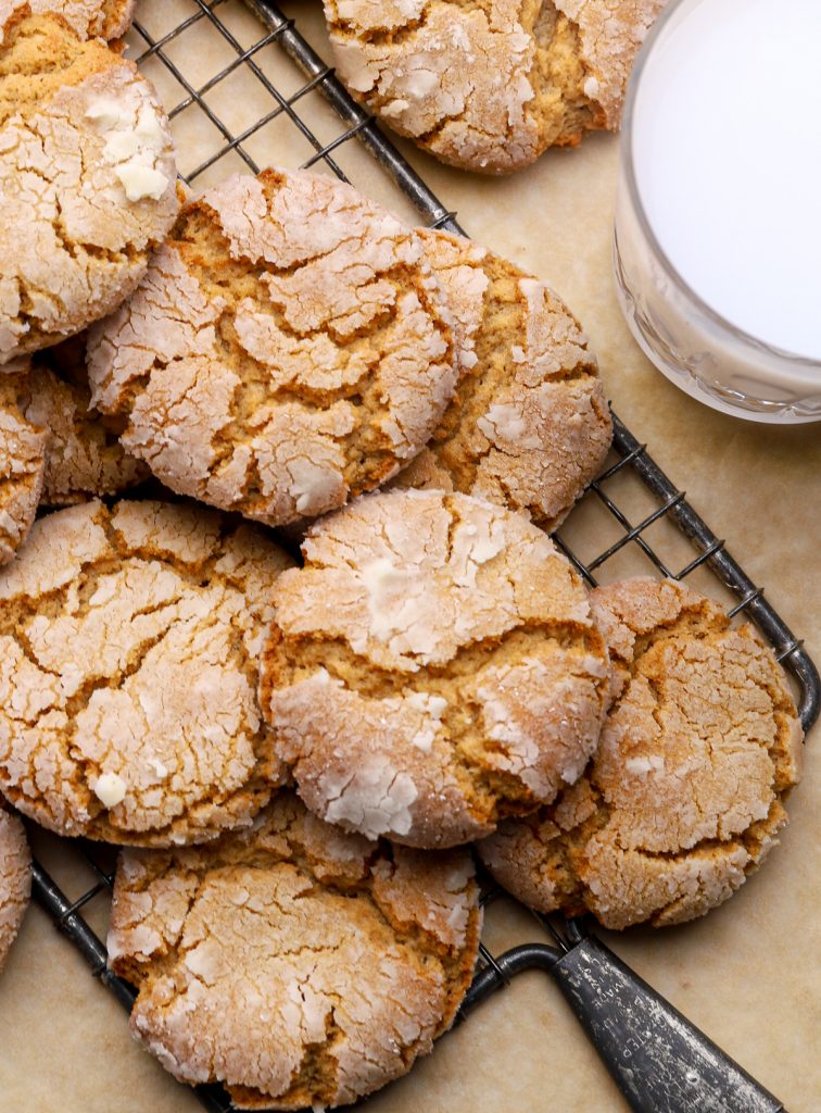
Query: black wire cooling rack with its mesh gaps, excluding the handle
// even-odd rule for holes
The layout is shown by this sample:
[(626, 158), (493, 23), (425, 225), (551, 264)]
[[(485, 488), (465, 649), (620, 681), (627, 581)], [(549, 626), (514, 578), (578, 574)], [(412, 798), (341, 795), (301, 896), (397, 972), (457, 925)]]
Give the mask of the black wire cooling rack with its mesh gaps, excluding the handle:
[[(174, 24), (164, 28), (161, 17), (167, 23), (171, 9)], [(248, 10), (256, 20), (249, 20)], [(239, 0), (144, 0), (138, 17), (128, 38), (129, 53), (165, 100), (178, 142), (180, 176), (189, 185), (202, 186), (243, 167), (256, 173), (271, 160), (270, 150), (276, 150), (274, 160), (280, 165), (287, 165), (285, 150), (294, 165), (324, 168), (347, 181), (349, 164), (356, 159), (344, 156), (350, 148), (360, 152), (364, 147), (385, 171), (382, 190), (392, 190), (396, 205), (407, 207), (409, 201), (429, 227), (464, 234), (456, 215), (419, 178), (373, 117), (348, 96), (294, 20), (273, 3), (245, 0), (243, 7)], [(207, 32), (225, 58), (224, 67), (208, 77), (198, 72), (200, 51), (189, 49), (195, 29), (200, 36)], [(293, 62), (289, 82), (271, 76), (271, 51), (284, 51)], [(233, 82), (236, 88), (231, 88)], [(269, 107), (244, 121), (241, 110), (248, 98), (243, 90), (247, 93), (249, 83), (267, 98)], [(186, 137), (196, 138), (196, 142), (187, 144)], [(188, 157), (189, 150), (196, 156)], [(295, 151), (299, 157), (293, 157)], [(389, 194), (387, 199), (389, 204)], [(650, 568), (660, 575), (689, 579), (701, 590), (723, 598), (731, 614), (743, 612), (751, 618), (793, 678), (801, 720), (809, 730), (819, 715), (821, 683), (801, 642), (764, 599), (763, 589), (745, 574), (684, 493), (654, 463), (646, 446), (615, 415), (614, 426), (613, 452), (605, 471), (591, 484), (555, 541), (591, 584), (641, 570), (643, 562), (645, 571)], [(578, 523), (584, 523), (584, 531), (577, 530)], [(584, 538), (591, 533), (600, 542), (609, 541), (606, 546), (600, 543), (597, 551), (586, 551)], [(107, 968), (106, 948), (82, 915), (95, 898), (110, 897), (110, 851), (78, 846), (77, 854), (92, 870), (93, 884), (77, 896), (67, 895), (34, 863), (34, 896), (91, 972), (130, 1009), (135, 991)], [(485, 900), (495, 895), (492, 890)], [(567, 949), (566, 938), (570, 945), (580, 938), (578, 925), (573, 922), (564, 935), (546, 920), (542, 923), (554, 946), (525, 944), (497, 956), (482, 947), (463, 1015), (520, 971), (548, 968)], [(218, 1086), (201, 1086), (197, 1093), (214, 1113), (233, 1110)]]

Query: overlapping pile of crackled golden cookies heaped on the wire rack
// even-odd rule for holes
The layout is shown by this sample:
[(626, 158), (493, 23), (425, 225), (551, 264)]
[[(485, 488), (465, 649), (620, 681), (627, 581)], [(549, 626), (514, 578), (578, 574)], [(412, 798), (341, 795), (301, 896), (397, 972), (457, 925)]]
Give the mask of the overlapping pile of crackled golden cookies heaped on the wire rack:
[[(126, 848), (110, 959), (169, 1071), (347, 1103), (456, 1014), (468, 844), (543, 910), (701, 915), (784, 823), (795, 709), (750, 627), (550, 540), (611, 440), (552, 290), (324, 177), (178, 199), (133, 67), (11, 9), (0, 790)], [(0, 812), (0, 961), (26, 854)]]

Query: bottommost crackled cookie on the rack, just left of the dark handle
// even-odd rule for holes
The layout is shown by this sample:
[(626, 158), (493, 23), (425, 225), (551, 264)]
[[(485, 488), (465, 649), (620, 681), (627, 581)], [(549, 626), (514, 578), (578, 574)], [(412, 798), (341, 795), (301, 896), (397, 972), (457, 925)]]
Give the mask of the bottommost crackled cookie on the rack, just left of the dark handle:
[(478, 948), (463, 851), (345, 835), (281, 795), (202, 849), (126, 851), (108, 939), (131, 1031), (239, 1109), (346, 1104), (449, 1027)]

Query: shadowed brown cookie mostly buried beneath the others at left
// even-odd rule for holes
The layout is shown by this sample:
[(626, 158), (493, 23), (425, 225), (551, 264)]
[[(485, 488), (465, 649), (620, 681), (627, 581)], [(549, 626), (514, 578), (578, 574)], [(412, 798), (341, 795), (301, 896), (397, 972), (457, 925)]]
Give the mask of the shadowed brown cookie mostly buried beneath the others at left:
[(22, 408), (48, 430), (42, 504), (120, 494), (150, 474), (120, 444), (121, 423), (91, 406), (85, 333), (38, 353)]

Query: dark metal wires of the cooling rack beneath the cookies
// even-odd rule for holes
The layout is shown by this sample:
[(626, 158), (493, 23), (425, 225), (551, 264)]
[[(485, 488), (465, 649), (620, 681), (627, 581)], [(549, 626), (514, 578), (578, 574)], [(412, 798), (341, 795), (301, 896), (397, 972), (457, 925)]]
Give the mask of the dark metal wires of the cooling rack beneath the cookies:
[[(137, 50), (138, 65), (145, 66), (149, 59), (157, 59), (184, 90), (184, 96), (169, 110), (171, 120), (197, 106), (221, 137), (217, 148), (207, 158), (182, 175), (188, 184), (195, 183), (231, 154), (238, 156), (248, 169), (257, 173), (259, 166), (247, 149), (248, 141), (271, 121), (286, 119), (313, 149), (313, 154), (303, 161), (303, 168), (323, 164), (338, 178), (347, 181), (348, 178), (334, 155), (343, 145), (356, 138), (364, 144), (369, 154), (393, 178), (405, 197), (423, 215), (429, 227), (464, 234), (456, 221), (455, 214), (449, 211), (418, 177), (396, 147), (379, 130), (373, 117), (349, 97), (334, 76), (333, 69), (319, 58), (296, 30), (293, 20), (287, 19), (267, 0), (245, 0), (246, 7), (258, 17), (266, 31), (250, 46), (243, 46), (218, 12), (220, 8), (229, 9), (231, 7), (230, 0), (211, 0), (211, 2), (188, 0), (188, 2), (191, 9), (190, 14), (166, 33), (154, 38), (140, 21), (135, 22), (132, 32), (132, 39), (136, 38), (141, 45), (141, 49)], [(236, 8), (236, 4), (234, 7)], [(186, 76), (182, 67), (170, 57), (169, 48), (189, 28), (201, 21), (207, 21), (214, 31), (221, 37), (233, 51), (234, 57), (218, 73), (210, 77), (205, 83), (197, 86)], [(271, 43), (281, 48), (306, 77), (306, 81), (287, 96), (260, 65), (260, 52)], [(273, 106), (250, 127), (233, 134), (209, 105), (207, 97), (220, 82), (243, 68), (261, 85), (271, 98)], [(335, 134), (329, 140), (320, 139), (315, 129), (306, 122), (304, 115), (300, 115), (300, 102), (305, 104), (306, 98), (311, 95), (322, 96), (344, 125), (343, 130)], [(554, 540), (591, 584), (597, 582), (597, 574), (607, 562), (617, 559), (631, 545), (635, 546), (664, 577), (683, 580), (692, 577), (699, 570), (702, 572), (709, 570), (713, 574), (714, 585), (723, 585), (734, 599), (734, 605), (730, 609), (730, 613), (745, 612), (759, 626), (773, 647), (778, 659), (792, 674), (799, 689), (801, 720), (804, 729), (809, 730), (819, 715), (821, 682), (813, 662), (801, 648), (801, 642), (763, 598), (763, 589), (753, 583), (726, 551), (724, 542), (715, 536), (703, 519), (688, 503), (684, 492), (679, 491), (654, 463), (646, 452), (646, 446), (641, 444), (615, 415), (614, 426), (613, 463), (591, 484), (582, 500), (582, 505), (595, 501), (600, 508), (604, 509), (611, 524), (617, 528), (617, 535), (607, 548), (584, 558), (567, 540), (565, 529), (560, 531)], [(637, 479), (644, 493), (652, 500), (651, 509), (641, 514), (635, 524), (622, 504), (621, 492), (616, 494), (616, 487), (626, 477)], [(578, 513), (578, 510), (574, 511), (568, 523), (572, 524), (574, 516)], [(695, 554), (681, 567), (676, 568), (670, 558), (663, 558), (660, 554), (659, 545), (650, 540), (654, 528), (660, 523), (672, 525), (677, 535), (688, 539), (695, 550)], [(106, 865), (101, 864), (99, 848), (80, 846), (78, 854), (82, 856), (96, 878), (87, 890), (71, 900), (43, 867), (39, 863), (34, 863), (34, 896), (52, 916), (57, 926), (83, 955), (91, 972), (100, 978), (127, 1009), (130, 1009), (136, 995), (133, 988), (108, 969), (106, 948), (82, 915), (83, 908), (96, 897), (110, 896), (113, 874)], [(485, 900), (489, 902), (496, 895), (497, 890), (492, 890), (486, 895)], [(560, 951), (565, 951), (567, 948), (565, 937), (544, 918), (540, 917), (540, 920), (546, 932), (553, 936)], [(581, 928), (577, 924), (571, 922), (566, 925), (566, 936), (571, 945), (577, 942), (580, 932)], [(503, 955), (494, 956), (486, 947), (482, 946), (479, 965), (474, 984), (463, 1005), (463, 1014), (469, 1012), (489, 993), (507, 984), (511, 977), (521, 969), (534, 966), (548, 967), (555, 961), (556, 954), (555, 947), (525, 944)], [(233, 1110), (227, 1095), (218, 1086), (200, 1086), (198, 1087), (198, 1096), (205, 1107), (214, 1113), (229, 1113)]]

